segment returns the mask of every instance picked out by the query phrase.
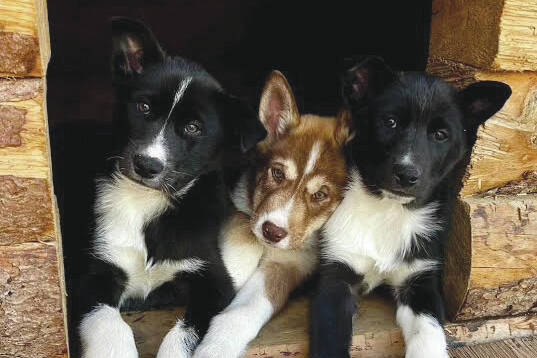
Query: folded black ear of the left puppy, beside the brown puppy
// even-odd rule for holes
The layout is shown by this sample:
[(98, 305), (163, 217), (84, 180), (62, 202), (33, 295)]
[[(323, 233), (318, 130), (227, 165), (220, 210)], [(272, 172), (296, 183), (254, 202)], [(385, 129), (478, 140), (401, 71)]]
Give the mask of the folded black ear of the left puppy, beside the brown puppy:
[(231, 130), (232, 146), (246, 153), (266, 137), (267, 131), (259, 122), (254, 110), (244, 101), (221, 93), (227, 127)]

